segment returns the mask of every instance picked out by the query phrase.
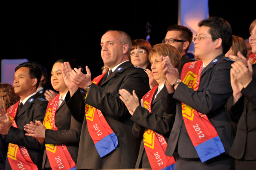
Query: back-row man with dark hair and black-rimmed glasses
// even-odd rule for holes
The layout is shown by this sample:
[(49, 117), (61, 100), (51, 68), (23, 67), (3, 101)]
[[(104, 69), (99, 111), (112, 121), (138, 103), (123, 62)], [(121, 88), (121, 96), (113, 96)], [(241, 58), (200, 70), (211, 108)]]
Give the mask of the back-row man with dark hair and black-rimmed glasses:
[(181, 73), (182, 68), (185, 63), (192, 62), (192, 60), (186, 55), (189, 50), (193, 38), (192, 31), (186, 26), (171, 25), (167, 29), (167, 34), (162, 43), (170, 44), (174, 46), (181, 56), (179, 73)]

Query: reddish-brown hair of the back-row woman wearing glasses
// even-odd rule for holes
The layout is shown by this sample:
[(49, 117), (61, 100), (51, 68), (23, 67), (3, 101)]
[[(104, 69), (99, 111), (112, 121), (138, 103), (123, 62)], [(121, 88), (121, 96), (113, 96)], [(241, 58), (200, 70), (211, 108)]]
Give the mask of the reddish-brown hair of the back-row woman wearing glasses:
[[(134, 49), (145, 49), (146, 52), (147, 52), (147, 55), (148, 55), (149, 52), (152, 49), (152, 46), (148, 41), (143, 40), (143, 39), (133, 40), (131, 42), (131, 50), (134, 50)], [(131, 56), (130, 55), (128, 56), (128, 58), (131, 61)], [(150, 63), (150, 61), (148, 61), (148, 67), (147, 68), (150, 69), (150, 67), (151, 67), (151, 63)]]

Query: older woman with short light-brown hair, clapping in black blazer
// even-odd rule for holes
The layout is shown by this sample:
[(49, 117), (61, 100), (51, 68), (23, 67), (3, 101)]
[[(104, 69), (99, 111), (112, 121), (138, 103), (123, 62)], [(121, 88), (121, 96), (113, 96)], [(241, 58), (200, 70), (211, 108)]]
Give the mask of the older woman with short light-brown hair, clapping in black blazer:
[[(156, 170), (156, 167), (160, 168), (158, 167), (159, 164), (167, 164), (160, 159), (158, 159), (158, 162), (155, 162), (156, 164), (154, 164), (154, 160), (157, 160), (156, 158), (158, 158), (159, 156), (154, 158), (153, 161), (149, 161), (148, 151), (145, 150), (145, 141), (143, 140), (144, 131), (145, 129), (148, 129), (151, 132), (154, 131), (160, 135), (163, 135), (167, 145), (169, 134), (172, 130), (172, 125), (175, 120), (176, 110), (173, 110), (173, 114), (167, 114), (163, 111), (161, 107), (161, 90), (165, 88), (165, 78), (162, 75), (161, 68), (161, 56), (169, 56), (170, 61), (175, 66), (175, 68), (178, 69), (180, 66), (180, 53), (175, 47), (165, 43), (157, 44), (153, 47), (153, 49), (149, 53), (149, 61), (151, 63), (151, 70), (154, 75), (154, 79), (159, 85), (155, 86), (144, 95), (144, 101), (143, 99), (141, 100), (141, 106), (139, 103), (139, 99), (137, 98), (137, 95), (134, 91), (133, 95), (131, 95), (125, 89), (119, 90), (121, 95), (120, 98), (132, 115), (131, 120), (135, 122), (132, 133), (135, 138), (141, 140), (140, 152), (135, 168), (151, 168), (152, 170)], [(145, 102), (148, 101), (148, 99), (146, 98), (150, 98), (147, 97), (148, 94), (150, 94), (150, 96), (152, 95), (151, 101), (149, 100), (150, 102)], [(148, 109), (146, 109), (145, 106), (148, 107)], [(159, 138), (160, 135), (156, 134), (155, 136)], [(163, 137), (160, 137), (161, 142), (164, 142)]]

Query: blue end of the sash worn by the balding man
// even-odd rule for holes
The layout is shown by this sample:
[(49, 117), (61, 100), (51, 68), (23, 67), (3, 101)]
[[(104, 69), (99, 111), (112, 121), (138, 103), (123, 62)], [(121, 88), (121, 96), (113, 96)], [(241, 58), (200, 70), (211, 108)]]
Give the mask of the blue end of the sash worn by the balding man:
[(95, 144), (95, 147), (99, 153), (99, 156), (102, 158), (103, 156), (111, 153), (114, 149), (116, 149), (118, 145), (117, 136), (113, 132)]

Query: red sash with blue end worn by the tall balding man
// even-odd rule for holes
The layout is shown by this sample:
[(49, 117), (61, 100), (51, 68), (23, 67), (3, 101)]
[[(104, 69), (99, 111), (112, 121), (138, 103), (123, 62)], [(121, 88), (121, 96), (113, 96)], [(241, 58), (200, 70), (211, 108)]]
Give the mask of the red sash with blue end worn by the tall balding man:
[[(98, 85), (104, 75), (105, 73), (94, 78), (93, 83)], [(87, 94), (85, 98), (87, 98)], [(85, 116), (90, 137), (93, 139), (99, 156), (102, 158), (116, 149), (118, 144), (116, 134), (108, 125), (99, 109), (85, 104)]]

